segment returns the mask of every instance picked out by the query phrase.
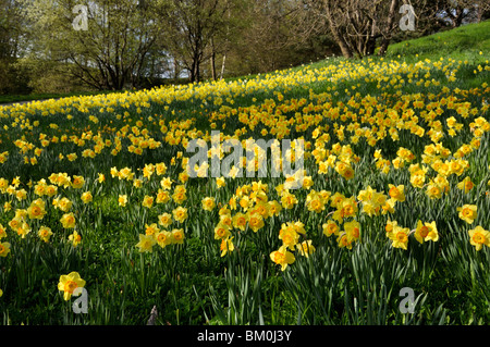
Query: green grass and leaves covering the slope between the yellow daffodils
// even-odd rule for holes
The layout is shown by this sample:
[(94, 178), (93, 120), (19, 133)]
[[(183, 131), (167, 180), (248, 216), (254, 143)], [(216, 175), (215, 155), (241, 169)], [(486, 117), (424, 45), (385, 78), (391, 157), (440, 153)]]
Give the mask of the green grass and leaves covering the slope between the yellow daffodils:
[[(172, 325), (488, 324), (490, 273), (486, 264), (490, 251), (486, 246), (475, 250), (467, 231), (476, 224), (485, 227), (490, 223), (489, 135), (485, 133), (480, 146), (465, 157), (469, 166), (464, 175), (476, 183), (468, 194), (455, 187), (463, 176), (450, 175), (451, 190), (440, 199), (430, 199), (425, 188), (412, 186), (408, 162), (404, 168), (382, 173), (373, 160), (375, 150), (381, 149), (383, 158), (395, 161), (400, 147), (405, 147), (413, 151), (414, 162), (422, 163), (427, 146), (438, 141), (428, 133), (437, 127), (429, 114), (438, 108), (443, 111), (438, 120), (444, 122), (444, 133), (449, 133), (445, 122), (450, 116), (464, 129), (454, 137), (445, 136), (442, 146), (455, 153), (463, 145), (473, 144), (471, 122), (480, 114), (489, 119), (485, 110), (488, 89), (481, 85), (490, 73), (477, 67), (488, 66), (483, 61), (490, 51), (486, 27), (488, 22), (456, 29), (454, 40), (452, 32), (438, 34), (442, 37), (439, 40), (448, 42), (443, 46), (446, 51), (437, 49), (430, 41), (434, 38), (427, 37), (393, 45), (383, 59), (330, 59), (265, 74), (247, 84), (238, 78), (0, 110), (0, 125), (5, 129), (0, 134), (2, 151), (9, 152), (0, 164), (0, 177), (8, 179), (8, 185), (16, 176), (21, 181), (14, 191), (5, 188), (0, 195), (0, 223), (8, 235), (1, 241), (11, 244), (11, 252), (0, 258), (2, 323), (137, 325), (145, 324), (151, 308), (157, 306), (158, 324)], [(463, 39), (478, 41), (476, 48), (462, 52)], [(418, 58), (414, 58), (415, 51), (419, 52)], [(441, 57), (444, 60), (439, 65)], [(468, 64), (457, 62), (462, 57), (466, 57)], [(455, 80), (446, 77), (449, 70), (455, 71)], [(430, 76), (426, 77), (427, 73)], [(411, 78), (413, 82), (408, 83)], [(475, 86), (478, 89), (469, 92)], [(439, 104), (440, 100), (454, 97), (462, 104), (469, 103), (476, 115), (465, 116), (465, 108)], [(360, 119), (375, 101), (373, 110), (387, 121), (394, 109), (401, 116), (406, 110), (401, 109), (402, 101), (406, 102), (405, 107), (417, 115), (416, 124), (425, 136), (393, 124), (390, 131), (396, 129), (396, 134), (388, 133), (375, 146), (364, 136), (355, 140), (356, 129), (350, 126), (356, 122), (363, 123), (360, 128), (371, 126), (373, 123)], [(416, 101), (422, 101), (424, 106), (416, 106)], [(322, 116), (316, 121), (318, 114)], [(305, 136), (311, 149), (317, 145), (320, 149), (318, 137), (313, 136), (318, 126), (322, 129), (320, 134), (330, 138), (324, 141), (326, 149), (334, 151), (334, 144), (339, 142), (344, 149), (351, 148), (359, 161), (354, 165), (355, 177), (345, 179), (332, 168), (327, 174), (318, 173), (315, 160), (318, 153), (309, 151), (305, 169), (311, 175), (313, 189), (355, 198), (368, 186), (385, 193), (389, 184), (403, 184), (406, 200), (397, 202), (393, 213), (373, 216), (364, 213), (359, 202), (355, 216), (346, 218), (345, 222), (360, 223), (360, 238), (347, 249), (339, 247), (334, 235), (328, 237), (322, 232), (322, 224), (335, 212), (330, 200), (323, 212), (308, 211), (305, 202), (310, 190), (298, 189), (294, 191), (298, 203), (267, 218), (258, 232), (250, 227), (234, 228), (235, 249), (221, 257), (220, 240), (213, 232), (220, 220), (219, 207), (206, 211), (201, 199), (213, 197), (220, 207), (230, 207), (233, 195), (258, 179), (228, 179), (220, 189), (215, 179), (182, 181), (182, 157), (188, 153), (177, 140), (203, 136), (211, 128), (225, 134), (240, 131), (244, 134), (241, 139), (261, 138), (264, 129), (271, 138), (278, 136), (272, 133), (274, 129), (283, 129), (289, 131), (287, 138)], [(49, 144), (44, 146), (42, 138), (48, 138)], [(17, 141), (21, 139), (25, 142)], [(131, 145), (138, 147), (150, 140), (160, 141), (161, 146), (142, 148), (142, 154), (130, 150)], [(121, 149), (112, 153), (118, 141)], [(94, 158), (84, 156), (86, 150), (96, 150), (100, 142), (105, 146)], [(42, 149), (38, 156), (36, 148)], [(71, 153), (76, 153), (77, 159), (66, 159)], [(347, 152), (338, 154), (354, 161)], [(36, 159), (34, 164), (32, 158)], [(146, 165), (161, 162), (167, 165), (164, 174), (144, 176)], [(123, 168), (131, 169), (134, 177), (112, 176), (112, 169), (121, 173)], [(52, 173), (66, 173), (72, 179), (82, 175), (85, 183), (82, 189), (57, 185), (49, 179)], [(106, 175), (106, 182), (98, 181), (99, 173)], [(431, 177), (436, 174), (436, 170), (428, 173)], [(177, 202), (170, 197), (167, 202), (144, 207), (145, 196), (155, 197), (159, 193), (162, 177), (173, 181), (170, 195), (175, 193), (175, 186), (185, 185), (187, 199)], [(82, 235), (81, 245), (74, 247), (69, 239), (73, 230), (61, 226), (64, 211), (52, 207), (53, 197), (41, 196), (47, 202), (47, 214), (42, 220), (28, 219), (32, 231), (25, 237), (20, 235), (22, 230), (17, 234), (10, 226), (14, 216), (22, 214), (19, 210), (28, 209), (38, 198), (33, 190), (42, 178), (57, 185), (53, 197), (66, 197), (73, 202), (71, 211)], [(139, 187), (134, 178), (142, 179)], [(267, 177), (262, 182), (269, 185), (268, 199), (281, 202), (275, 187), (283, 179)], [(21, 189), (26, 191), (24, 199), (17, 198)], [(91, 202), (83, 203), (84, 191), (93, 194)], [(127, 195), (126, 207), (118, 203), (120, 195)], [(5, 208), (7, 202), (12, 209)], [(455, 211), (464, 203), (478, 206), (478, 219), (471, 226)], [(147, 225), (158, 223), (159, 215), (172, 214), (180, 206), (187, 209), (187, 220), (174, 221), (168, 228), (183, 228), (184, 243), (164, 248), (154, 246), (150, 253), (139, 252), (136, 244)], [(388, 220), (396, 220), (412, 230), (418, 219), (437, 223), (439, 241), (420, 245), (411, 236), (407, 250), (394, 248), (385, 237)], [(307, 258), (294, 251), (295, 262), (281, 271), (270, 255), (282, 245), (278, 237), (282, 225), (296, 221), (303, 222), (306, 231), (299, 239), (311, 239), (316, 251)], [(42, 243), (36, 235), (40, 225), (52, 228), (49, 243)], [(60, 275), (71, 271), (79, 272), (86, 281), (88, 314), (73, 313), (73, 300), (64, 301), (57, 288)], [(415, 313), (399, 310), (400, 290), (406, 287), (414, 289)]]

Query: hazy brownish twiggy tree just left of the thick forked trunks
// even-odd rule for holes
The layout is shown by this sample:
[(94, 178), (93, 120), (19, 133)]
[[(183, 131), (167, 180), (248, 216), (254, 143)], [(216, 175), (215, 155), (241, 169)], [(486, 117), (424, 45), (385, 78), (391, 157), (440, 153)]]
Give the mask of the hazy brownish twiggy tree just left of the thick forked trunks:
[[(339, 53), (324, 33), (304, 17), (301, 0), (246, 0), (232, 12), (234, 36), (229, 39), (230, 75), (287, 69)], [(308, 25), (303, 25), (307, 23)]]

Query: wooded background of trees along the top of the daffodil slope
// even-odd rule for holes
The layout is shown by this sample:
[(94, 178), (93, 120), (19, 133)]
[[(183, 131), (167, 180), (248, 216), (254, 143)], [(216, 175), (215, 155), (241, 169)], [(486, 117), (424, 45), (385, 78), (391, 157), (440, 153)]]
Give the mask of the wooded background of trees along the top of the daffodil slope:
[[(403, 4), (415, 30), (400, 28)], [(359, 59), (489, 17), (490, 0), (0, 0), (0, 94), (151, 88)]]

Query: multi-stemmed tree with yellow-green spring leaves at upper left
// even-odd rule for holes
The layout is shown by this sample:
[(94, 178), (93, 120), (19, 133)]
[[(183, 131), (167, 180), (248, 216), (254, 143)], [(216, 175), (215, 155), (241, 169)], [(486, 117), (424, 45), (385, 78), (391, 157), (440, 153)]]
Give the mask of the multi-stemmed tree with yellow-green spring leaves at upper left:
[[(27, 9), (30, 54), (66, 64), (73, 77), (97, 89), (136, 87), (163, 30), (156, 14), (163, 1), (19, 1)], [(85, 27), (78, 18), (87, 20)]]

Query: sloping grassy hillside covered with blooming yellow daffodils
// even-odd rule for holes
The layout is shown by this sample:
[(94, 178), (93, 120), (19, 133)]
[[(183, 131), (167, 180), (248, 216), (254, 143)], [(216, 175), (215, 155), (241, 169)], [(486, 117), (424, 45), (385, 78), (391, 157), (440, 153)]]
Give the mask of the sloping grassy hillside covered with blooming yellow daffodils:
[[(172, 325), (489, 324), (487, 26), (384, 58), (0, 108), (1, 322), (145, 324), (156, 306)], [(187, 144), (212, 131), (260, 158), (254, 140), (297, 140), (279, 163), (303, 157), (303, 179), (259, 177), (243, 153), (253, 177), (206, 162), (192, 177)], [(205, 158), (233, 159), (221, 146)]]

